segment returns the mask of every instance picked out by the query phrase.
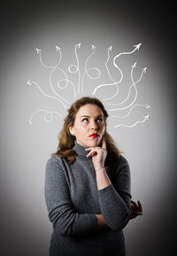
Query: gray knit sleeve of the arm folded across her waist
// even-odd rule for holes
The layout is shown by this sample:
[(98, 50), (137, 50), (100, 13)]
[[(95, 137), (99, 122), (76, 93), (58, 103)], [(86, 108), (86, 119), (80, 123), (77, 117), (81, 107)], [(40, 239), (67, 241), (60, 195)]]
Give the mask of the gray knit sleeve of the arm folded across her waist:
[(82, 236), (96, 232), (95, 214), (75, 213), (64, 170), (54, 157), (46, 163), (44, 192), (50, 221), (60, 235)]

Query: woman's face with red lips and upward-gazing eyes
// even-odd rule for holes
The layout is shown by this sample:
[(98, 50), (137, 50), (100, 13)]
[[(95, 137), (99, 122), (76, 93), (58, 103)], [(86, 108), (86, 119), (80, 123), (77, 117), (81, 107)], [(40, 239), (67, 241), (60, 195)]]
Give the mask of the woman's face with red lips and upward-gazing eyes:
[(100, 144), (105, 131), (104, 113), (97, 105), (82, 105), (76, 113), (70, 133), (76, 142), (85, 147), (96, 147)]

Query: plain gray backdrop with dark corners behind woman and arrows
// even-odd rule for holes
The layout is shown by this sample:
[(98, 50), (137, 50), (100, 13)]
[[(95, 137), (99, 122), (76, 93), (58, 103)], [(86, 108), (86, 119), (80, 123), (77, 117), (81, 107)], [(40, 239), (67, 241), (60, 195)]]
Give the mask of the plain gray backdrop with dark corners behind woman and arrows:
[[(35, 48), (42, 49), (43, 61), (52, 66), (58, 61), (55, 45), (61, 47), (62, 68), (66, 69), (76, 64), (73, 50), (77, 43), (81, 43), (82, 69), (94, 44), (96, 55), (89, 66), (99, 66), (103, 72), (103, 80), (85, 80), (87, 95), (95, 82), (107, 81), (104, 62), (108, 47), (112, 45), (114, 57), (142, 43), (134, 55), (119, 59), (127, 79), (120, 87), (121, 98), (127, 95), (130, 68), (135, 61), (136, 78), (141, 68), (147, 66), (147, 73), (137, 85), (136, 103), (151, 107), (137, 108), (125, 123), (142, 120), (146, 114), (150, 114), (150, 119), (135, 128), (113, 128), (119, 121), (112, 119), (109, 112), (108, 131), (125, 152), (132, 173), (132, 196), (141, 200), (143, 207), (142, 217), (130, 221), (124, 229), (127, 256), (173, 255), (176, 213), (173, 6), (150, 2), (124, 5), (119, 1), (50, 1), (50, 4), (24, 1), (6, 4), (1, 12), (2, 255), (48, 255), (52, 229), (43, 195), (44, 168), (50, 153), (57, 149), (63, 120), (54, 115), (51, 122), (45, 122), (42, 112), (35, 115), (31, 126), (28, 120), (37, 109), (64, 115), (66, 112), (56, 100), (43, 97), (35, 85), (28, 85), (27, 80), (39, 82), (50, 94), (49, 69), (40, 65)], [(111, 70), (115, 79), (119, 79), (119, 73), (112, 67)], [(76, 83), (77, 75), (71, 79)], [(102, 89), (96, 97), (111, 96), (113, 91), (113, 88)], [(71, 89), (64, 95), (73, 102)], [(119, 102), (119, 98), (114, 102)]]

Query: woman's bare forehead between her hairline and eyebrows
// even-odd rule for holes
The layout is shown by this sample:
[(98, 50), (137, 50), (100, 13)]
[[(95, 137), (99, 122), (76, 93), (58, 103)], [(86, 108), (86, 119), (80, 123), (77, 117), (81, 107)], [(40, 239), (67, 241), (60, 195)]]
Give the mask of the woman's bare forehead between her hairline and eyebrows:
[(87, 105), (82, 105), (79, 111), (77, 112), (76, 116), (81, 116), (81, 115), (89, 115), (89, 116), (97, 116), (97, 115), (104, 115), (103, 111), (98, 105), (92, 105), (92, 104), (87, 104)]

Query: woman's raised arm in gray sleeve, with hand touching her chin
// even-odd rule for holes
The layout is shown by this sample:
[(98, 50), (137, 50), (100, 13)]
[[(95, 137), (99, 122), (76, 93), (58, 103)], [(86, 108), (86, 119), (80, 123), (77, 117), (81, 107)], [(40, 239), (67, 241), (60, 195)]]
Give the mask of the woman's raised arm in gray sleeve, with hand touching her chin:
[(127, 159), (120, 156), (115, 163), (112, 184), (104, 168), (107, 154), (105, 140), (103, 139), (102, 147), (91, 147), (86, 151), (89, 151), (87, 157), (92, 157), (96, 170), (98, 198), (104, 221), (113, 230), (123, 229), (132, 213)]

